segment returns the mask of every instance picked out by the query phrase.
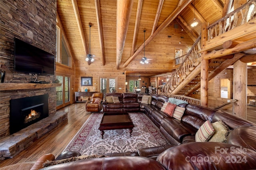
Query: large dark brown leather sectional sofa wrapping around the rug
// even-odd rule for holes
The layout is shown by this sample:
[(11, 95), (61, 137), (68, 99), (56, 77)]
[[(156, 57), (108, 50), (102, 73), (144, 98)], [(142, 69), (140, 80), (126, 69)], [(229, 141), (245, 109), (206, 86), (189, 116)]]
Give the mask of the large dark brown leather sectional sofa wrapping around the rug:
[[(256, 169), (256, 125), (225, 111), (181, 103), (185, 107), (181, 121), (161, 110), (169, 97), (152, 95), (151, 105), (142, 104), (141, 93), (109, 93), (118, 96), (120, 103), (102, 103), (103, 112), (144, 112), (172, 145), (143, 148), (136, 152), (110, 153), (104, 158), (78, 160), (50, 166), (47, 169), (80, 170), (206, 170)], [(232, 130), (227, 142), (195, 142), (195, 134), (207, 120), (223, 121)], [(74, 153), (77, 154), (77, 153)], [(71, 154), (63, 153), (59, 158)], [(77, 156), (77, 155), (76, 155)]]

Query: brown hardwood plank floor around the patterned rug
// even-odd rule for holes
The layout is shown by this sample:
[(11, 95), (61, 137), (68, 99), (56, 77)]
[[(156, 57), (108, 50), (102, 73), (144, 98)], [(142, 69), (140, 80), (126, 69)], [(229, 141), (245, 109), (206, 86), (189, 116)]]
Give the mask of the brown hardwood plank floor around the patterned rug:
[[(68, 121), (38, 139), (14, 158), (1, 161), (0, 167), (18, 162), (36, 161), (40, 156), (48, 153), (58, 156), (91, 115), (91, 113), (85, 111), (85, 103), (75, 103), (58, 111), (68, 112)], [(255, 106), (247, 106), (247, 118), (249, 121), (256, 123)]]

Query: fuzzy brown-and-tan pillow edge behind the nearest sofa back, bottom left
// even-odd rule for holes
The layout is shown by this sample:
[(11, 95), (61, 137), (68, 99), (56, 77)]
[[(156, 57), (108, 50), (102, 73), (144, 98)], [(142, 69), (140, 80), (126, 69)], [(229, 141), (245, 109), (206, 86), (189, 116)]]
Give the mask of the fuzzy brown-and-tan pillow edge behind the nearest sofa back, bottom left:
[(66, 162), (73, 162), (76, 160), (82, 160), (82, 159), (90, 159), (90, 158), (102, 158), (105, 157), (105, 155), (81, 155), (81, 156), (73, 156), (71, 158), (66, 158), (62, 160), (46, 160), (46, 162), (43, 163), (43, 167), (53, 166), (57, 164), (64, 164)]

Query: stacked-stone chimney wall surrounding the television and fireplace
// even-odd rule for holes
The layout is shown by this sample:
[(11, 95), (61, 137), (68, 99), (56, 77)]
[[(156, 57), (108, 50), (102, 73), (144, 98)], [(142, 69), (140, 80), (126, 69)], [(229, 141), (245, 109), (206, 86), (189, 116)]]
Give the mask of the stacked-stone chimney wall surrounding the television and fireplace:
[[(0, 1), (0, 69), (6, 71), (4, 83), (28, 83), (35, 77), (14, 71), (14, 37), (56, 57), (56, 0)], [(56, 75), (40, 75), (39, 80), (54, 81)], [(56, 112), (56, 89), (0, 90), (0, 138), (10, 134), (10, 99), (49, 95), (49, 115)]]

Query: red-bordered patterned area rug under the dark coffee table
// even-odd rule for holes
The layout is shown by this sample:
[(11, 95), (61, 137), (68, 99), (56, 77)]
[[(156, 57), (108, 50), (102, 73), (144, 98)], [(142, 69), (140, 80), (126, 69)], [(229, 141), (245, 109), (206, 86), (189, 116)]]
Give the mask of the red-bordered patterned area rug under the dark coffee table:
[(98, 130), (103, 113), (92, 113), (64, 151), (77, 151), (82, 155), (134, 152), (140, 148), (170, 144), (160, 130), (144, 115), (129, 113), (134, 128), (104, 130), (104, 138)]

